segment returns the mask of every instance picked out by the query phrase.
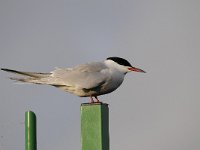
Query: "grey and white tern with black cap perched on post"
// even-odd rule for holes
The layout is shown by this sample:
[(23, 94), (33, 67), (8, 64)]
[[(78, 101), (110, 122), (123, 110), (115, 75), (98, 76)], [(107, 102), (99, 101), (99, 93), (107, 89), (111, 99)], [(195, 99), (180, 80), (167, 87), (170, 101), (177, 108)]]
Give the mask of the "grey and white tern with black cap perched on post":
[(101, 103), (98, 96), (115, 91), (128, 72), (145, 73), (121, 57), (108, 57), (104, 61), (85, 63), (73, 68), (55, 68), (49, 73), (24, 72), (7, 68), (1, 70), (20, 75), (20, 77), (10, 77), (12, 80), (51, 85), (79, 97), (89, 97), (90, 103)]

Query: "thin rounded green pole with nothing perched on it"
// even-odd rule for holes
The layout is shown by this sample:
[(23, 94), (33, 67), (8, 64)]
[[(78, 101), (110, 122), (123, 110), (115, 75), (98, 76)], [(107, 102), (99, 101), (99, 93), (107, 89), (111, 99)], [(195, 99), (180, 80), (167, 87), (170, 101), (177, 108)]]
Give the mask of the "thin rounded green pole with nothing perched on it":
[(32, 111), (25, 112), (25, 150), (37, 150), (36, 115)]

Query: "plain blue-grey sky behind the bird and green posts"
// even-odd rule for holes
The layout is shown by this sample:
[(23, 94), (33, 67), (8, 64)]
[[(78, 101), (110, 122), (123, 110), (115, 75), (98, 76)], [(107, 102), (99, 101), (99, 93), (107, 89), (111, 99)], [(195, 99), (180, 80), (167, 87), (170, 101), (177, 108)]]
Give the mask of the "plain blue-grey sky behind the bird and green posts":
[[(197, 0), (1, 0), (0, 67), (54, 67), (128, 59), (110, 107), (113, 150), (200, 149), (200, 2)], [(0, 150), (24, 149), (24, 113), (38, 117), (38, 149), (80, 150), (79, 98), (14, 84), (0, 72)]]

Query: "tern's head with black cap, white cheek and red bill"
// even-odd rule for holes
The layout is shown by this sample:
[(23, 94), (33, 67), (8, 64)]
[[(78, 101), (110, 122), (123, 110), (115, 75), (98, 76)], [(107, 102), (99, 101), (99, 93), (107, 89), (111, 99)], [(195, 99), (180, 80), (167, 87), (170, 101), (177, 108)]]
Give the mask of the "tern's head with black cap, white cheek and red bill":
[(106, 59), (106, 64), (109, 67), (115, 68), (123, 73), (135, 71), (135, 72), (142, 72), (146, 73), (144, 70), (133, 67), (126, 59), (120, 57), (108, 57)]

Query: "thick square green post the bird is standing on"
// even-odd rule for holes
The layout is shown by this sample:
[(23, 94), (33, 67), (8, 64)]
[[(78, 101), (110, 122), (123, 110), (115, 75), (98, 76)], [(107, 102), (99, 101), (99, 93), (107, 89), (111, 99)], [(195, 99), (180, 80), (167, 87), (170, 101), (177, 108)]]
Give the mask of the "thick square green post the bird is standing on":
[(81, 104), (82, 150), (109, 150), (108, 104)]

